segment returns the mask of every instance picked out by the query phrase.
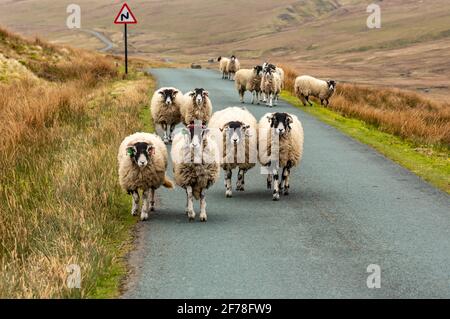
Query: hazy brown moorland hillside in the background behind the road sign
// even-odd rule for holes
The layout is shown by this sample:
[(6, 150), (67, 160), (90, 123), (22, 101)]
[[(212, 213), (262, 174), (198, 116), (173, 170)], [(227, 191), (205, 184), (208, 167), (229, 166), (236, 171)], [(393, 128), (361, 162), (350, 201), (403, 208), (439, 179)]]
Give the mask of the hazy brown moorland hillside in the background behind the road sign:
[[(245, 64), (270, 59), (320, 77), (448, 95), (450, 2), (373, 2), (382, 9), (380, 30), (366, 27), (365, 0), (135, 0), (139, 24), (130, 27), (130, 46), (134, 54), (185, 62), (235, 53)], [(101, 31), (119, 52), (122, 28), (112, 20), (120, 4), (77, 3), (83, 28)], [(20, 32), (102, 48), (89, 34), (65, 27), (65, 5), (4, 1), (0, 21)]]

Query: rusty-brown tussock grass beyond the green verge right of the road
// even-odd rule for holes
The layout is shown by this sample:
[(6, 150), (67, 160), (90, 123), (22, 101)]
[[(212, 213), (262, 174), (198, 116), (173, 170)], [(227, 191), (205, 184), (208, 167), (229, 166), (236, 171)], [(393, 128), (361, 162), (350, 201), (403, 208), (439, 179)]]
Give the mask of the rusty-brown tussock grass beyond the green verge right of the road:
[[(297, 72), (289, 66), (286, 90), (294, 94)], [(415, 92), (339, 84), (330, 108), (358, 118), (387, 133), (418, 144), (450, 148), (450, 105), (428, 100)]]

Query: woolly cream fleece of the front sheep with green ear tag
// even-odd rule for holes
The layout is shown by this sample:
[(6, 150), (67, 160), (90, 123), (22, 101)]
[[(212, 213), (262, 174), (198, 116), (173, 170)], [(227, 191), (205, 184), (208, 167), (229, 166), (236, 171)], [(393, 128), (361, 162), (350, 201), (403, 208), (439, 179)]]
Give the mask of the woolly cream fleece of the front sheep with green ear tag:
[[(153, 145), (155, 150), (147, 166), (142, 169), (139, 169), (127, 154), (127, 148), (138, 142)], [(135, 133), (126, 137), (120, 144), (117, 155), (120, 186), (125, 191), (157, 189), (161, 185), (171, 188), (172, 185), (166, 178), (167, 159), (166, 146), (159, 136), (150, 133)]]

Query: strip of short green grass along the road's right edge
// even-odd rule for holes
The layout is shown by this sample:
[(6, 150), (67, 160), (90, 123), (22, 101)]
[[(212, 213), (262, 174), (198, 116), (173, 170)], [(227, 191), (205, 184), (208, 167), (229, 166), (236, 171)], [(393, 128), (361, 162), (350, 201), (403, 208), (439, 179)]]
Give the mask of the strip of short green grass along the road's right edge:
[(302, 111), (372, 146), (394, 162), (450, 194), (450, 156), (446, 148), (415, 144), (382, 132), (364, 121), (344, 117), (316, 103), (313, 107), (304, 107), (297, 97), (287, 91), (284, 91), (281, 97)]

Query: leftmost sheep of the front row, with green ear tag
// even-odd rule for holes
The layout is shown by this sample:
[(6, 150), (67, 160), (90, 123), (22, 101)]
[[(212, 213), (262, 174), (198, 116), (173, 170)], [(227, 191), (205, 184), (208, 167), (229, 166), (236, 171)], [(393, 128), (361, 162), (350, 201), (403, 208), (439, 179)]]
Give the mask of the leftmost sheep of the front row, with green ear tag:
[(133, 197), (133, 216), (139, 213), (139, 191), (142, 191), (142, 221), (155, 210), (155, 190), (161, 185), (173, 188), (172, 181), (166, 177), (167, 159), (166, 146), (155, 134), (135, 133), (120, 144), (119, 183)]

